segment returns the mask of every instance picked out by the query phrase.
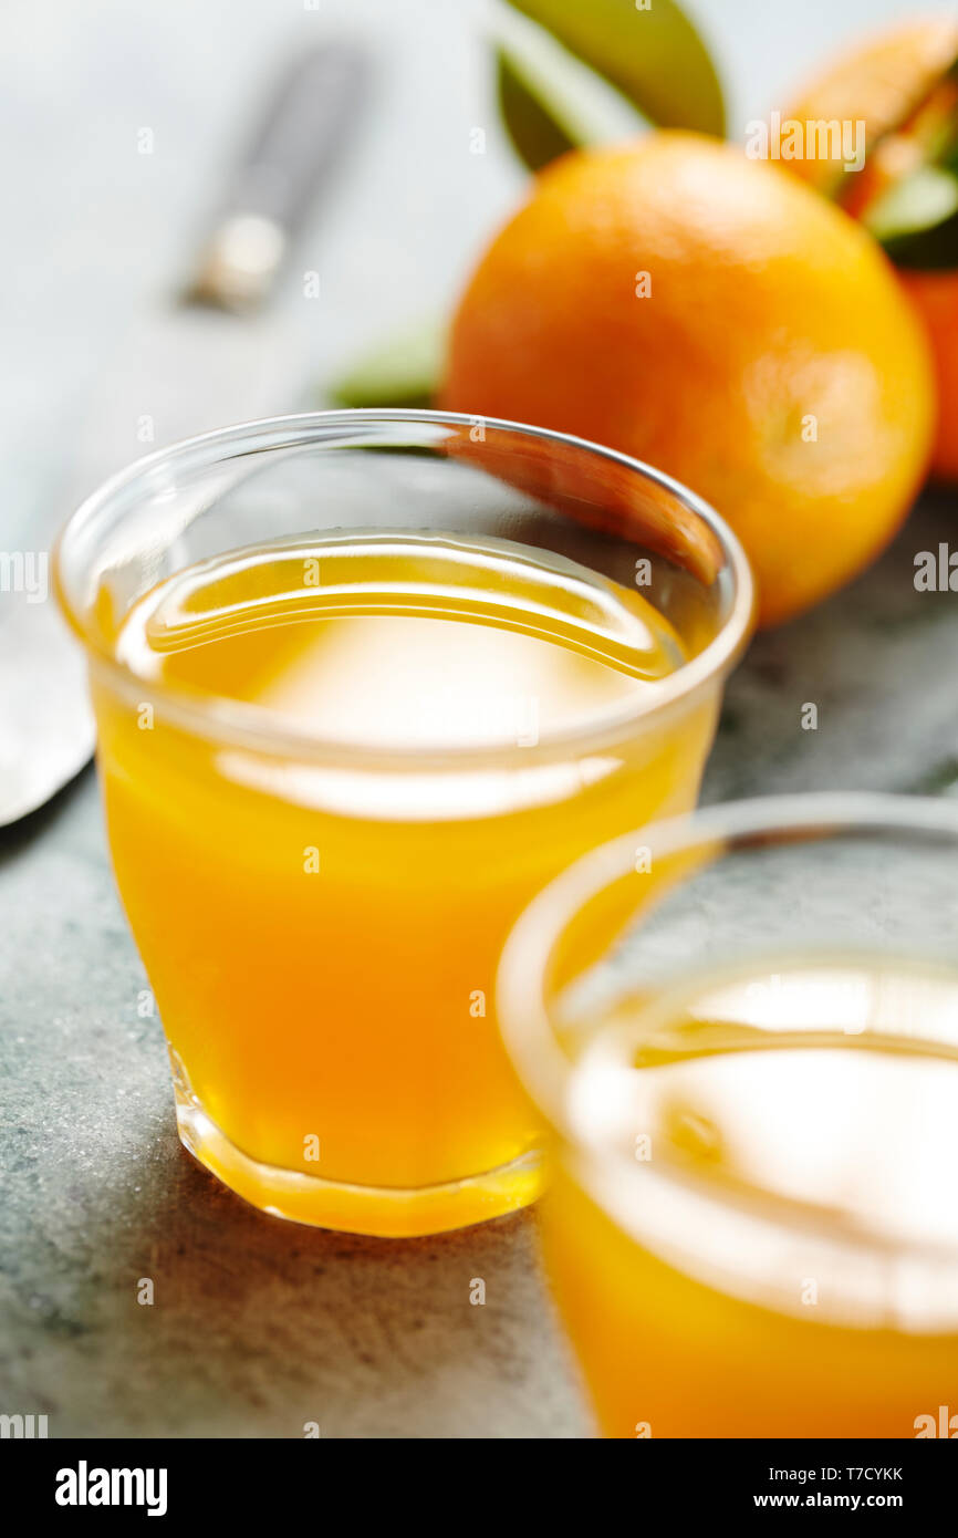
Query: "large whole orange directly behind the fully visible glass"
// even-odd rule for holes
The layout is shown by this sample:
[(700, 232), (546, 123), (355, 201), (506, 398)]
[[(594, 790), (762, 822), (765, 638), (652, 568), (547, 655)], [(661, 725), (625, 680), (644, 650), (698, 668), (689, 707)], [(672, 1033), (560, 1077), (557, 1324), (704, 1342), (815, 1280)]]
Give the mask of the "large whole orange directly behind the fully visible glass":
[(933, 424), (921, 328), (866, 231), (687, 132), (538, 177), (460, 300), (443, 403), (684, 481), (743, 540), (764, 624), (883, 548)]

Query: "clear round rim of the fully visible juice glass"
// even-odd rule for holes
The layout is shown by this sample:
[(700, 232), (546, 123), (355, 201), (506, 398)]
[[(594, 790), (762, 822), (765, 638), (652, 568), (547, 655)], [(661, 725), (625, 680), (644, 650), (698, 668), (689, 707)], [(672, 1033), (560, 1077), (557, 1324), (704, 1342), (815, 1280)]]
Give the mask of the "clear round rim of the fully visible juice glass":
[(248, 446), (248, 452), (268, 452), (269, 449), (321, 446), (324, 434), (331, 429), (355, 426), (412, 428), (412, 426), (474, 426), (477, 417), (464, 412), (427, 411), (427, 409), (343, 409), (343, 411), (309, 411), (284, 414), (280, 417), (261, 417), (252, 421), (234, 423), (215, 428), (191, 438), (171, 443), (152, 454), (123, 466), (98, 488), (95, 488), (62, 526), (52, 548), (54, 591), (71, 631), (83, 644), (91, 666), (108, 677), (114, 689), (131, 701), (140, 701), (145, 689), (151, 698), (163, 703), (168, 717), (197, 735), (226, 741), (234, 746), (249, 747), (269, 755), (318, 758), (323, 763), (344, 761), (349, 764), (441, 769), (455, 767), (497, 767), (512, 761), (534, 764), (554, 760), (570, 751), (589, 751), (627, 737), (641, 721), (666, 718), (677, 707), (687, 704), (703, 689), (714, 681), (724, 678), (741, 657), (755, 623), (755, 583), (752, 569), (738, 537), (732, 532), (724, 518), (701, 497), (689, 491), (680, 481), (666, 475), (641, 460), (609, 449), (604, 444), (578, 438), (574, 434), (557, 432), (549, 428), (535, 428), (527, 423), (509, 421), (498, 417), (481, 417), (484, 428), (501, 432), (514, 432), (532, 440), (567, 446), (592, 455), (598, 461), (624, 468), (641, 480), (652, 481), (675, 497), (689, 512), (698, 517), (718, 540), (723, 554), (723, 569), (730, 574), (732, 597), (730, 608), (717, 635), (690, 661), (683, 663), (657, 681), (655, 692), (647, 701), (627, 706), (614, 706), (598, 720), (590, 720), (581, 726), (564, 727), (557, 732), (544, 732), (541, 738), (529, 746), (512, 743), (477, 744), (438, 744), (415, 747), (369, 747), (360, 743), (343, 740), (328, 740), (308, 727), (297, 727), (295, 723), (280, 723), (269, 718), (269, 714), (255, 704), (229, 700), (225, 695), (205, 694), (201, 698), (185, 689), (169, 684), (157, 684), (141, 678), (132, 667), (120, 661), (109, 647), (98, 643), (85, 612), (72, 601), (66, 568), (72, 558), (72, 546), (89, 531), (91, 524), (111, 506), (111, 503), (128, 494), (137, 483), (145, 484), (157, 469), (174, 466), (180, 469), (198, 469), (215, 464), (226, 451), (240, 444)]

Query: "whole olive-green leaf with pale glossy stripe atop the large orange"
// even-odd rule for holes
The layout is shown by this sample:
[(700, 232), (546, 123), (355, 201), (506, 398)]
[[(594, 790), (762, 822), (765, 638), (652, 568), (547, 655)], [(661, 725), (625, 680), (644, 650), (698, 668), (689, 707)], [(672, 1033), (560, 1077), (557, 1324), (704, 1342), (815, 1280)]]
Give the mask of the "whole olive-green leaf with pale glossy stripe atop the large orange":
[[(495, 23), (506, 128), (532, 169), (572, 146), (620, 137), (621, 129), (607, 128), (609, 102), (600, 108), (595, 85), (586, 88), (587, 71), (661, 128), (724, 135), (718, 75), (674, 0), (649, 0), (644, 9), (637, 0), (511, 3), (540, 29), (537, 40), (529, 29), (520, 35)], [(570, 68), (577, 60), (578, 72)]]

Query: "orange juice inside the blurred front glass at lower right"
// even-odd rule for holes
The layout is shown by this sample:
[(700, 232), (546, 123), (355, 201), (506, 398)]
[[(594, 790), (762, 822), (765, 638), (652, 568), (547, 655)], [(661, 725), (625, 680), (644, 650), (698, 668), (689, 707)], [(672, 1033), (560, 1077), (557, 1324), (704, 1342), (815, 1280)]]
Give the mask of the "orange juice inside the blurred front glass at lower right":
[(958, 974), (783, 960), (683, 995), (594, 1037), (543, 1203), (603, 1432), (958, 1435)]

